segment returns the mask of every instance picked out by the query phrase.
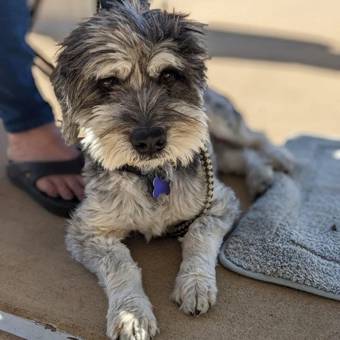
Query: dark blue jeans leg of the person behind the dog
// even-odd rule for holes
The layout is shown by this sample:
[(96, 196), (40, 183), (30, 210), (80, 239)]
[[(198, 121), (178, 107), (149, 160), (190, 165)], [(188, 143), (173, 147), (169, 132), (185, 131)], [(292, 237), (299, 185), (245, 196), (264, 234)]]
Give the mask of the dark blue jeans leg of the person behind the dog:
[(54, 120), (32, 76), (34, 52), (25, 40), (29, 23), (26, 0), (0, 0), (0, 117), (7, 132)]

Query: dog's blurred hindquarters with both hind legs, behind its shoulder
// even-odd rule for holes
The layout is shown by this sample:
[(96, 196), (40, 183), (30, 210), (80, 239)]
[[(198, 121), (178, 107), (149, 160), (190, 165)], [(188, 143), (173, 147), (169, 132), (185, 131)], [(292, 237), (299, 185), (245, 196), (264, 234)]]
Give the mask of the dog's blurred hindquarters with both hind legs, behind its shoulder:
[(261, 132), (250, 130), (227, 98), (207, 89), (204, 100), (217, 170), (246, 176), (252, 198), (271, 186), (274, 170), (293, 169), (290, 152), (272, 145)]

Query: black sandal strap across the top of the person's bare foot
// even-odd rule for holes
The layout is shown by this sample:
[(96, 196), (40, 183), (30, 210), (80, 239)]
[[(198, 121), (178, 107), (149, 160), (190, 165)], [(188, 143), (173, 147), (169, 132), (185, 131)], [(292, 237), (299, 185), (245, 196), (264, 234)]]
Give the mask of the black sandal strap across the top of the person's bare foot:
[(84, 167), (84, 155), (81, 153), (76, 159), (62, 162), (11, 162), (8, 161), (8, 169), (18, 171), (25, 176), (30, 183), (35, 185), (38, 179), (62, 174), (81, 174)]

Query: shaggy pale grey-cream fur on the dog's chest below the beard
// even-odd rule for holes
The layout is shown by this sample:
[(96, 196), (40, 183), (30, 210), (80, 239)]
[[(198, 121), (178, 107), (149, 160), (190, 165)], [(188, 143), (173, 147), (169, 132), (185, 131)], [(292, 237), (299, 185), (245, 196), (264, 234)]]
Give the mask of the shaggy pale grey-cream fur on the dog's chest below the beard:
[[(114, 173), (106, 183), (100, 181), (100, 185), (90, 181), (86, 188), (89, 199), (80, 209), (98, 210), (96, 225), (92, 225), (98, 232), (138, 231), (147, 239), (160, 236), (167, 227), (196, 217), (205, 205), (207, 186), (201, 166), (196, 176), (178, 176), (174, 171), (171, 177), (171, 193), (157, 199), (135, 174)], [(93, 218), (90, 220), (94, 223)]]

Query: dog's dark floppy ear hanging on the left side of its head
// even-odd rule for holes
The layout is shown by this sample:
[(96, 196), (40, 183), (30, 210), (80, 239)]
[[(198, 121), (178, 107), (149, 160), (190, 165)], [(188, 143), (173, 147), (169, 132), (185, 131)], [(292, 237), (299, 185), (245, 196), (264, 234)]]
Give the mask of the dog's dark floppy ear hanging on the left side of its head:
[(79, 135), (79, 125), (75, 122), (73, 107), (76, 94), (72, 89), (76, 86), (72, 86), (72, 79), (74, 74), (69, 72), (62, 62), (58, 62), (51, 74), (51, 82), (62, 108), (62, 135), (67, 145), (74, 145)]

